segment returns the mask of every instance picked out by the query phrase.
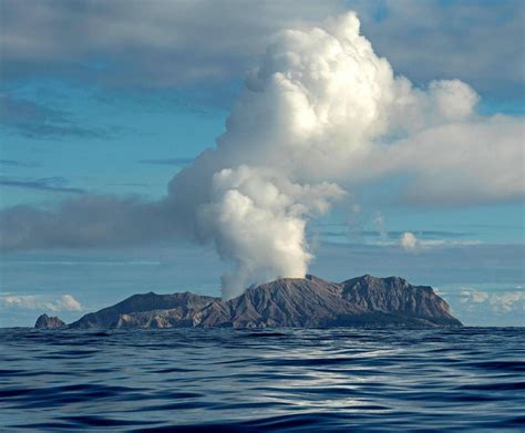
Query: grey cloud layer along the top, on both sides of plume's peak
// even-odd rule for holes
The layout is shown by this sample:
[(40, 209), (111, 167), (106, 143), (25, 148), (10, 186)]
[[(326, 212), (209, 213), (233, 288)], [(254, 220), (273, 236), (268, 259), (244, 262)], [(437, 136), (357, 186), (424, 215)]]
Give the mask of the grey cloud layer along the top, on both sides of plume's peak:
[(523, 81), (521, 1), (150, 1), (148, 13), (141, 1), (2, 3), (2, 74), (12, 80), (40, 73), (162, 87), (227, 79), (291, 23), (357, 9), (378, 52), (416, 82), (459, 76), (513, 92)]

